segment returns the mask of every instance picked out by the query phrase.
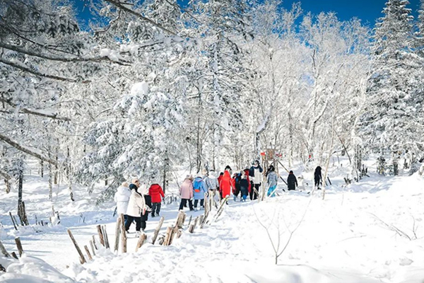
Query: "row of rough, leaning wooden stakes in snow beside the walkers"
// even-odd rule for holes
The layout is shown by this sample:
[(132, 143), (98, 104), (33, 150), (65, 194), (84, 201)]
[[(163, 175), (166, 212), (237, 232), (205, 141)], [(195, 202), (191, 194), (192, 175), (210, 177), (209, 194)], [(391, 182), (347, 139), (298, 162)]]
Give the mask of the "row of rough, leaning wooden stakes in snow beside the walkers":
[[(194, 233), (194, 229), (196, 229), (196, 226), (200, 226), (200, 229), (203, 229), (204, 225), (209, 222), (208, 216), (209, 216), (209, 212), (211, 212), (211, 207), (213, 206), (212, 205), (213, 199), (208, 198), (207, 195), (205, 195), (205, 199), (210, 200), (210, 201), (205, 202), (205, 212), (204, 212), (204, 214), (197, 216), (194, 219), (194, 221), (192, 221), (192, 216), (190, 216), (189, 224), (187, 225), (189, 233)], [(228, 201), (228, 197), (225, 197), (225, 199), (221, 200), (219, 207), (218, 207), (218, 205), (216, 205), (216, 207), (218, 208), (218, 211), (216, 212), (213, 221), (216, 221), (218, 219), (218, 217), (220, 216), (220, 214), (222, 214), (223, 209), (225, 207), (224, 204), (227, 201)], [(153, 233), (152, 244), (154, 245), (155, 242), (158, 241), (158, 243), (162, 246), (170, 246), (172, 244), (172, 241), (174, 241), (175, 237), (179, 238), (182, 235), (182, 230), (183, 230), (183, 226), (184, 226), (184, 222), (186, 220), (186, 217), (187, 217), (187, 214), (185, 214), (182, 210), (180, 210), (179, 213), (178, 213), (178, 216), (177, 216), (177, 220), (175, 221), (175, 224), (173, 226), (168, 226), (167, 230), (165, 232), (165, 235), (163, 235), (162, 237), (159, 237), (160, 229), (162, 228), (163, 221), (165, 221), (165, 217), (162, 216), (160, 218), (158, 226), (156, 227), (156, 229)], [(119, 238), (120, 238), (122, 253), (126, 253), (126, 230), (125, 230), (125, 223), (124, 222), (125, 222), (124, 221), (124, 214), (119, 214), (119, 217), (117, 218), (117, 225), (116, 225), (116, 230), (115, 230), (116, 231), (115, 232), (115, 240), (114, 240), (114, 251), (115, 252), (118, 252), (118, 250), (119, 250)], [(110, 241), (109, 241), (109, 237), (107, 236), (106, 226), (105, 225), (103, 225), (103, 226), (98, 225), (97, 230), (98, 230), (98, 237), (99, 237), (99, 240), (100, 240), (100, 245), (102, 245), (105, 248), (110, 248)], [(80, 260), (81, 264), (86, 263), (87, 262), (86, 258), (84, 257), (83, 252), (81, 251), (81, 248), (79, 248), (78, 243), (76, 242), (75, 238), (73, 238), (71, 230), (68, 229), (68, 233), (69, 233), (69, 237), (71, 238), (73, 245), (75, 246), (75, 248), (78, 252), (79, 260)], [(139, 250), (139, 248), (141, 248), (141, 246), (143, 246), (143, 244), (146, 242), (146, 239), (147, 239), (146, 233), (141, 233), (141, 235), (139, 237), (139, 241), (137, 241), (135, 251)], [(90, 240), (90, 248), (91, 248), (91, 253), (93, 253), (93, 255), (95, 255), (95, 250), (98, 250), (98, 247), (96, 246), (94, 235), (93, 235), (93, 240)], [(93, 260), (93, 257), (90, 253), (90, 250), (88, 249), (88, 246), (84, 246), (84, 250), (86, 250), (88, 260)]]

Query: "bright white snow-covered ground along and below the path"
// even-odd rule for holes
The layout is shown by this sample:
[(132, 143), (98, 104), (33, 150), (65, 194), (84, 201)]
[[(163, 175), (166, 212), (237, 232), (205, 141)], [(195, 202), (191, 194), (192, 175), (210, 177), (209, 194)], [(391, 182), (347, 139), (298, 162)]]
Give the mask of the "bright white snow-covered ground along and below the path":
[[(279, 196), (265, 202), (231, 199), (218, 221), (193, 234), (184, 226), (182, 237), (172, 246), (146, 243), (134, 253), (137, 239), (132, 233), (129, 253), (98, 250), (94, 260), (84, 265), (66, 229), (82, 247), (97, 234), (95, 226), (105, 224), (112, 246), (114, 204), (96, 207), (100, 191), (88, 197), (83, 187), (75, 188), (76, 202), (69, 201), (66, 187), (59, 187), (54, 202), (49, 202), (47, 178), (28, 175), (23, 199), (31, 224), (35, 215), (47, 220), (52, 204), (61, 224), (14, 231), (8, 212), (16, 214), (16, 192), (6, 195), (0, 187), (0, 239), (11, 252), (16, 251), (14, 237), (20, 236), (25, 250), (19, 262), (0, 259), (8, 266), (6, 273), (0, 273), (0, 282), (422, 283), (424, 178), (418, 174), (382, 177), (372, 173), (372, 162), (367, 165), (370, 178), (345, 187), (348, 168), (334, 164), (333, 185), (324, 200), (321, 191), (307, 193), (312, 173), (302, 173), (298, 167), (295, 173), (302, 173), (309, 184), (303, 192), (283, 192), (280, 184)], [(164, 231), (175, 221), (177, 203), (163, 207), (161, 214), (166, 219)], [(158, 220), (149, 218), (148, 242)], [(278, 265), (273, 246), (282, 252)]]

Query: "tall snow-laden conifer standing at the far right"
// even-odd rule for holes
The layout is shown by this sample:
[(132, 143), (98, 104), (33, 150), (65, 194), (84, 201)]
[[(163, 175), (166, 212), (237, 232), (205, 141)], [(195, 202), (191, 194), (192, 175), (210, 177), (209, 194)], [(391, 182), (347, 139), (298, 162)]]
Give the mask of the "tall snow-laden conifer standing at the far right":
[(375, 28), (372, 74), (363, 116), (367, 141), (375, 149), (418, 151), (416, 55), (413, 16), (406, 0), (389, 0)]

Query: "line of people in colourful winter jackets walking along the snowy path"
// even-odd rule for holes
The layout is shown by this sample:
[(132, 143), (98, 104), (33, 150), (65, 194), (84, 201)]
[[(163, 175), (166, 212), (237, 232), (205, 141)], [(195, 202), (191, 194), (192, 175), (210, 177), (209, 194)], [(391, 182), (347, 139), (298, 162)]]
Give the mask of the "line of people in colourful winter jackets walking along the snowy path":
[[(275, 197), (278, 178), (281, 178), (274, 166), (267, 168), (265, 176), (264, 170), (259, 161), (254, 161), (252, 167), (246, 168), (240, 172), (232, 174), (230, 166), (225, 167), (225, 171), (216, 176), (215, 171), (203, 171), (202, 174), (187, 175), (182, 185), (179, 187), (179, 210), (189, 205), (190, 211), (199, 207), (204, 207), (205, 197), (215, 197), (219, 195), (220, 200), (234, 196), (234, 201), (240, 195), (240, 202), (257, 200), (259, 192), (265, 190), (262, 183), (264, 177), (266, 180), (266, 195)], [(283, 180), (283, 178), (281, 178)], [(317, 167), (314, 172), (314, 183), (319, 190), (319, 184), (322, 182), (321, 167)], [(287, 182), (288, 190), (295, 190), (298, 187), (298, 179), (293, 171), (288, 174)], [(124, 214), (125, 229), (129, 231), (129, 227), (135, 221), (136, 233), (146, 229), (146, 221), (148, 214), (152, 217), (159, 216), (160, 204), (165, 194), (162, 187), (158, 183), (153, 183), (150, 187), (141, 184), (135, 178), (131, 183), (122, 183), (118, 187), (114, 195), (114, 201), (117, 202), (117, 213)], [(193, 204), (194, 200), (194, 204)], [(228, 204), (228, 203), (227, 203)]]

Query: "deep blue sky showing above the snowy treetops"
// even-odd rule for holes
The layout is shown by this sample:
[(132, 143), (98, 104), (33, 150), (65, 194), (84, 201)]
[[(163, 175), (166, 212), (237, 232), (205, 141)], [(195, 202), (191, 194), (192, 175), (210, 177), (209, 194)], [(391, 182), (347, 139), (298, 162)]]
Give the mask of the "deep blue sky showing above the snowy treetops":
[[(83, 0), (73, 0), (76, 4), (78, 10), (78, 18), (80, 21), (87, 22), (90, 18), (90, 13), (88, 8), (83, 8)], [(290, 8), (294, 2), (299, 0), (285, 0), (283, 1), (283, 6), (285, 8)], [(420, 6), (420, 0), (409, 0), (410, 5), (408, 8), (413, 10), (413, 16), (418, 15), (417, 11)], [(187, 0), (180, 0), (180, 3)], [(307, 13), (308, 11), (317, 14), (319, 12), (329, 12), (333, 11), (337, 13), (337, 16), (342, 21), (349, 20), (353, 17), (360, 18), (363, 23), (370, 26), (374, 26), (377, 18), (383, 16), (382, 10), (386, 0), (300, 0), (302, 4), (303, 11)]]

